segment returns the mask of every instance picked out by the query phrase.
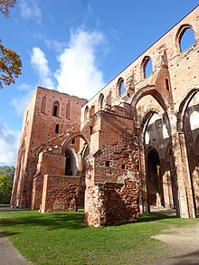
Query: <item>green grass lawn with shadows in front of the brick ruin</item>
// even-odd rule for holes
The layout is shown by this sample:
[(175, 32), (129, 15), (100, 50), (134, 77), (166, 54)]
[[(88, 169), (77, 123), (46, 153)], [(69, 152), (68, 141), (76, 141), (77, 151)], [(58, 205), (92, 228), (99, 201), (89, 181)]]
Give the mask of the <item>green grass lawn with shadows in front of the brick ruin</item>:
[(151, 238), (171, 226), (199, 223), (164, 214), (140, 214), (137, 222), (102, 228), (83, 223), (83, 212), (0, 212), (0, 231), (33, 264), (145, 264), (164, 256)]

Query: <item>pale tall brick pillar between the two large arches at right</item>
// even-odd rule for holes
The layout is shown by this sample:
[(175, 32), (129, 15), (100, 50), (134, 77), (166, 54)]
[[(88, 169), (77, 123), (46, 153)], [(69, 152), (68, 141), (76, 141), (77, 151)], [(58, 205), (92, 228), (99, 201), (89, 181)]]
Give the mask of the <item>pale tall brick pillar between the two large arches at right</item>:
[(185, 147), (185, 134), (183, 132), (175, 134), (172, 137), (172, 144), (178, 185), (179, 215), (184, 218), (194, 218), (194, 197)]

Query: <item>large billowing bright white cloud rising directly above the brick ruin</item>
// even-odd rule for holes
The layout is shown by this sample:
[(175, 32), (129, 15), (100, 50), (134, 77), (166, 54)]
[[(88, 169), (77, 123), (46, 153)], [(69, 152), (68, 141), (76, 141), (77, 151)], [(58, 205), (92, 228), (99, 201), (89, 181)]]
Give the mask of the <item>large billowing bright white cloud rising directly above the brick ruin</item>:
[(68, 48), (58, 57), (60, 68), (55, 78), (59, 91), (90, 99), (105, 85), (97, 62), (98, 48), (104, 42), (103, 34), (97, 31), (71, 32)]

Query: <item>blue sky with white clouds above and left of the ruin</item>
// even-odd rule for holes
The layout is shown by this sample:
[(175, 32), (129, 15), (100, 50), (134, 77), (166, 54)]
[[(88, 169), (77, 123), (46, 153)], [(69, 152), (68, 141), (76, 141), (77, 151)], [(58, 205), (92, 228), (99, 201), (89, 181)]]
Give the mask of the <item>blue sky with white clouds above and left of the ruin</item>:
[(0, 90), (0, 166), (15, 166), (23, 113), (42, 86), (90, 99), (191, 12), (198, 0), (17, 0), (2, 43), (22, 75)]

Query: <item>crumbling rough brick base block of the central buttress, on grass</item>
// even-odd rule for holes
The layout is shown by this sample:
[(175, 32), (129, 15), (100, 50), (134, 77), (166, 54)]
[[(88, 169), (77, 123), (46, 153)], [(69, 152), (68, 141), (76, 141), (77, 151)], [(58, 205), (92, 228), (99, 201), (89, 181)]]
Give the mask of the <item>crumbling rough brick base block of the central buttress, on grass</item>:
[(135, 181), (88, 186), (85, 222), (93, 226), (134, 222), (139, 213), (139, 195), (140, 187)]

